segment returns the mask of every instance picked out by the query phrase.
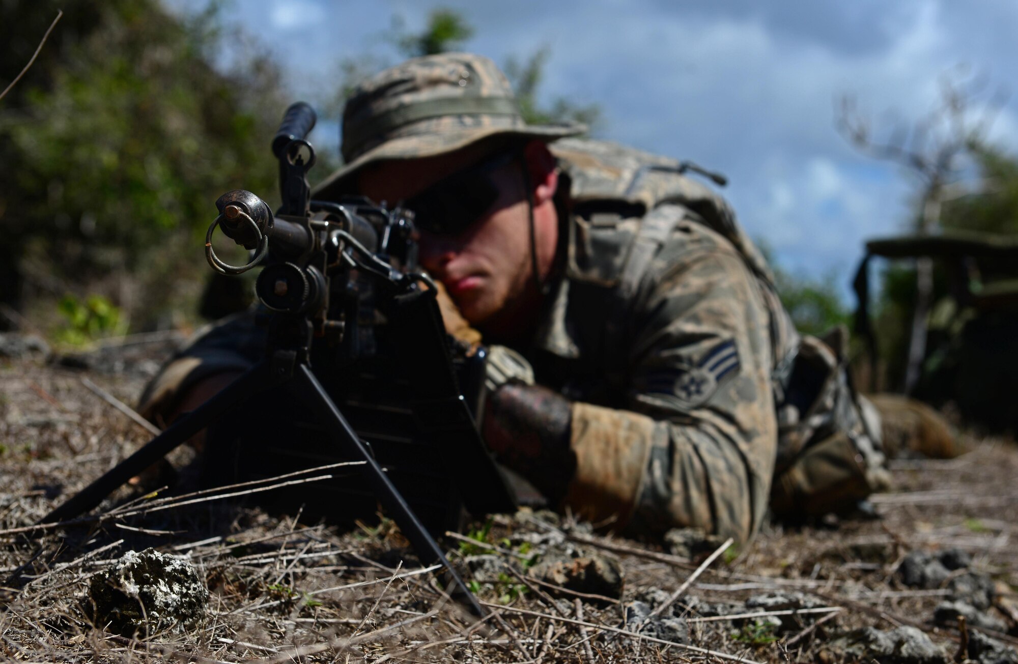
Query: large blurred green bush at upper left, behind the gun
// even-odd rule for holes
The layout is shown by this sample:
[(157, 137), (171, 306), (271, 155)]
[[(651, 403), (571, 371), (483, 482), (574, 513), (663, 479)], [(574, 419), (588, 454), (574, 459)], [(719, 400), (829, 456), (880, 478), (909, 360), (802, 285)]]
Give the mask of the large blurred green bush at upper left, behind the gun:
[[(0, 38), (56, 5), (3, 3)], [(225, 40), (237, 64), (221, 72)], [(240, 186), (275, 197), (278, 69), (215, 5), (179, 18), (157, 0), (73, 3), (51, 41), (0, 103), (0, 217), (17, 290), (46, 300), (96, 289), (150, 327), (208, 274), (216, 198)], [(3, 75), (12, 68), (5, 58)]]

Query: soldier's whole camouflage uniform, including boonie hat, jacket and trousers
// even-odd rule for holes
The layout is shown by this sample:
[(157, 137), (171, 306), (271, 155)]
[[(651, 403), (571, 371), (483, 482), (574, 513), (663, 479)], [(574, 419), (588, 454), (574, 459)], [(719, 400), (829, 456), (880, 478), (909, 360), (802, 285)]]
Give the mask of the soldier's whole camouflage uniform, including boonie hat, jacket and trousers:
[[(457, 95), (473, 111), (449, 115)], [(523, 125), (483, 101), (507, 98), (504, 77), (476, 56), (383, 72), (348, 104), (348, 164), (316, 196), (349, 191), (357, 169), (381, 159), (442, 154), (503, 133), (575, 133)], [(373, 131), (384, 137), (363, 135)], [(880, 455), (843, 358), (818, 340), (800, 344), (729, 207), (672, 160), (579, 140), (553, 150), (569, 187), (565, 268), (532, 343), (517, 350), (538, 383), (572, 401), (576, 472), (563, 479), (564, 505), (635, 531), (694, 525), (745, 541), (772, 498), (776, 459), (783, 475), (774, 498), (786, 511), (810, 511), (817, 487), (832, 483), (838, 499), (868, 493)], [(235, 321), (182, 353), (150, 388), (160, 398), (148, 409), (170, 403), (194, 376), (250, 362), (240, 351), (245, 329)], [(811, 380), (796, 383), (796, 372)], [(803, 466), (810, 450), (822, 453)]]

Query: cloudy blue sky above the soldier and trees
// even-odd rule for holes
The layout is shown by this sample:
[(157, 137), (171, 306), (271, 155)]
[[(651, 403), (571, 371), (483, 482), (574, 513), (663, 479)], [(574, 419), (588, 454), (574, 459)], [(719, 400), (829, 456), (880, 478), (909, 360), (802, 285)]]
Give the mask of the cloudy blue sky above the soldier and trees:
[[(863, 239), (905, 223), (914, 180), (846, 144), (836, 101), (854, 95), (890, 129), (928, 113), (959, 65), (993, 89), (1016, 84), (1011, 0), (236, 0), (227, 15), (314, 100), (338, 85), (342, 58), (397, 61), (393, 16), (416, 30), (435, 6), (461, 10), (475, 27), (466, 50), (496, 62), (549, 47), (544, 95), (600, 104), (598, 137), (726, 173), (749, 234), (793, 272), (836, 274), (846, 294)], [(316, 133), (338, 141), (334, 123)], [(991, 139), (1018, 150), (1015, 95)]]

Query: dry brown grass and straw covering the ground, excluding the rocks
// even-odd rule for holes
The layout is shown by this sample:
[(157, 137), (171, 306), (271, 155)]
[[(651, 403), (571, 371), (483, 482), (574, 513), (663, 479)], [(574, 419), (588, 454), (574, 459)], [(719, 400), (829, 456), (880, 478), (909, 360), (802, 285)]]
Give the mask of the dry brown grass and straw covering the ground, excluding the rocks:
[[(139, 366), (154, 368), (135, 357), (124, 371), (89, 378), (131, 403), (146, 378)], [(928, 622), (944, 592), (901, 587), (894, 570), (902, 557), (959, 547), (977, 568), (1015, 582), (1018, 451), (996, 440), (972, 441), (973, 451), (955, 460), (898, 462), (898, 492), (874, 500), (881, 520), (769, 525), (734, 559), (722, 555), (692, 579), (697, 564), (660, 548), (591, 535), (568, 519), (496, 517), (478, 546), (446, 540), (492, 609), (480, 622), (448, 600), (434, 570), (421, 568), (385, 523), (340, 533), (299, 515), (270, 516), (238, 497), (153, 498), (144, 496), (146, 487), (124, 489), (97, 510), (101, 518), (25, 531), (148, 440), (148, 432), (87, 389), (82, 375), (38, 363), (0, 366), (0, 651), (14, 660), (815, 661), (832, 633), (899, 624), (920, 627), (953, 654), (958, 634)], [(174, 463), (186, 466), (188, 454), (179, 450)], [(186, 485), (186, 474), (181, 480)], [(135, 502), (124, 506), (128, 499)], [(188, 555), (204, 574), (212, 598), (200, 627), (127, 639), (91, 624), (81, 600), (88, 578), (123, 552), (146, 547)], [(628, 630), (624, 602), (562, 594), (520, 573), (534, 555), (570, 547), (619, 559), (624, 602), (657, 588), (676, 606), (769, 591), (805, 593), (823, 606), (791, 616), (799, 626), (777, 640), (752, 627), (759, 612), (739, 623), (749, 626), (736, 626), (732, 616), (690, 615), (688, 644), (669, 644)]]

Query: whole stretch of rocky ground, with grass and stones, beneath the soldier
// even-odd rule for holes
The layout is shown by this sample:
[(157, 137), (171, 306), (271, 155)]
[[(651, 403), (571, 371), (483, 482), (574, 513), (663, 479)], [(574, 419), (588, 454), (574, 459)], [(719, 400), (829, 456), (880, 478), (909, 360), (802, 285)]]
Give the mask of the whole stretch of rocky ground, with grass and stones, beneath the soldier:
[(100, 394), (133, 403), (177, 341), (48, 359), (22, 342), (0, 356), (5, 658), (1018, 662), (1018, 448), (997, 439), (896, 461), (897, 490), (873, 497), (880, 518), (769, 524), (744, 549), (495, 516), (443, 540), (490, 609), (479, 622), (390, 522), (342, 533), (271, 516), (252, 506), (260, 487), (181, 495), (143, 482), (88, 519), (34, 528), (149, 439)]

